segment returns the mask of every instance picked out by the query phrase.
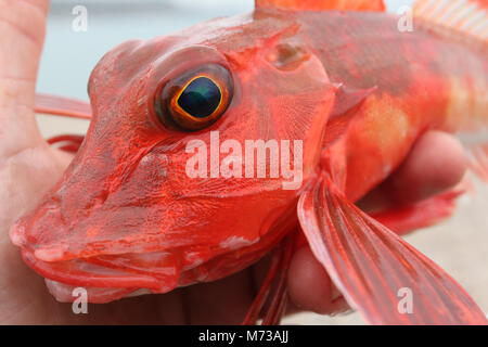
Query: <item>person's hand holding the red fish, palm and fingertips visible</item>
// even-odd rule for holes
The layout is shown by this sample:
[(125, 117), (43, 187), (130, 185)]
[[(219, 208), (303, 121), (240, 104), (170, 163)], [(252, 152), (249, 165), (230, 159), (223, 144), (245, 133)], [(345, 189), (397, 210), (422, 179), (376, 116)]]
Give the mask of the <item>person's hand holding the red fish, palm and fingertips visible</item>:
[[(69, 304), (52, 298), (43, 279), (24, 265), (11, 244), (9, 228), (38, 203), (72, 159), (48, 146), (33, 112), (48, 7), (47, 0), (0, 0), (0, 324), (240, 323), (266, 273), (266, 259), (221, 281), (90, 305), (89, 314), (76, 316)], [(360, 206), (378, 208), (427, 198), (455, 185), (465, 169), (458, 140), (427, 132)], [(334, 301), (337, 291), (308, 247), (293, 257), (288, 287), (293, 311), (330, 314), (344, 308), (344, 303)]]

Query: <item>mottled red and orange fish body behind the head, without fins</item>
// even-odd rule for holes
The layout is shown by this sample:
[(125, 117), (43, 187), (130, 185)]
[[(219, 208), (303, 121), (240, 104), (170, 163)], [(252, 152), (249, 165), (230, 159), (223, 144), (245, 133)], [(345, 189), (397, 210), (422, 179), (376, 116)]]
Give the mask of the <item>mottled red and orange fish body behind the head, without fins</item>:
[(296, 16), (303, 41), (312, 42), (332, 81), (375, 88), (344, 139), (345, 190), (351, 201), (389, 176), (426, 130), (475, 132), (486, 127), (486, 48), (452, 39), (449, 30), (433, 31), (422, 21), (413, 31), (401, 31), (398, 16), (387, 13)]

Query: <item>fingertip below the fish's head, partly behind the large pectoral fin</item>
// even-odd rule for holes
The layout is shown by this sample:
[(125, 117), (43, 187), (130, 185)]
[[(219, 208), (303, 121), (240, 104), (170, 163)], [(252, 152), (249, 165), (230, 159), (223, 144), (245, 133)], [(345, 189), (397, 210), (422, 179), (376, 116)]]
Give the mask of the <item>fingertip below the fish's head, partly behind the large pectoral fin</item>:
[(348, 307), (308, 246), (293, 256), (288, 270), (288, 294), (298, 308), (320, 314), (336, 313)]

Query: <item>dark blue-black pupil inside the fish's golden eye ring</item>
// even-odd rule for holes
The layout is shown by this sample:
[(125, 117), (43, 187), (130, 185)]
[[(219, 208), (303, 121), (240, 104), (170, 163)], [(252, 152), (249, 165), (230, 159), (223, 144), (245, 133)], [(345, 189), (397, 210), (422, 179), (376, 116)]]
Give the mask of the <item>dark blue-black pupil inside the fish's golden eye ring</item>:
[(178, 105), (193, 117), (205, 118), (216, 111), (221, 97), (211, 79), (198, 77), (183, 90), (178, 98)]

